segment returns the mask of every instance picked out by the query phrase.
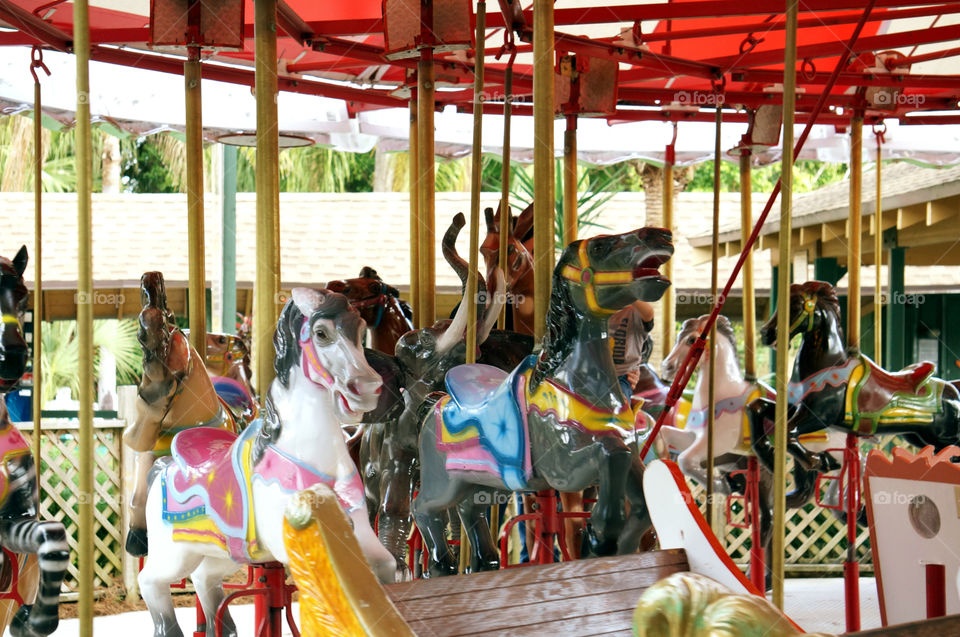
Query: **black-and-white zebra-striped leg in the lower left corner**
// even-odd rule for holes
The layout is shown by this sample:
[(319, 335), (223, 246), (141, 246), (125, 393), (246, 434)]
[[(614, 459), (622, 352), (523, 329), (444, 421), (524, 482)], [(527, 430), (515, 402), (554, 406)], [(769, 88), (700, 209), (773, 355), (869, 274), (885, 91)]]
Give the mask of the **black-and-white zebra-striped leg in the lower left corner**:
[(70, 560), (63, 524), (34, 519), (4, 521), (0, 523), (0, 543), (16, 553), (36, 553), (40, 562), (37, 600), (17, 613), (10, 633), (14, 637), (53, 633), (60, 621), (60, 584)]

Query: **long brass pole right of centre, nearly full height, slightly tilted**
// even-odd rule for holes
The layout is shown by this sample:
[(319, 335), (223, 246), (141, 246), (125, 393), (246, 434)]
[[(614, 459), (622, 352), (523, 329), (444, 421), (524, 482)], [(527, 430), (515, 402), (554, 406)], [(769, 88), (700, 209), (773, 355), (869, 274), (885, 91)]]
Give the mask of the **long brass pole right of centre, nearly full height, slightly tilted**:
[(783, 61), (783, 158), (781, 160), (780, 251), (777, 268), (777, 408), (773, 467), (773, 603), (783, 610), (783, 559), (786, 524), (787, 381), (790, 347), (790, 256), (793, 207), (793, 114), (796, 103), (797, 2), (787, 1)]

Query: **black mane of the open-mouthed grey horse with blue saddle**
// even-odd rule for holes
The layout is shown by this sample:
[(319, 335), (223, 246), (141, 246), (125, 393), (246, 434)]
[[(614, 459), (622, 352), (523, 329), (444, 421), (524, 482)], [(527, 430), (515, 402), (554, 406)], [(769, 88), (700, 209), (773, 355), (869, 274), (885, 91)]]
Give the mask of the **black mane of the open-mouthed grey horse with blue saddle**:
[(570, 283), (560, 272), (576, 254), (580, 241), (574, 241), (563, 251), (553, 270), (553, 290), (550, 293), (550, 310), (547, 312), (547, 332), (543, 337), (543, 350), (530, 378), (530, 389), (536, 389), (544, 378), (552, 374), (573, 351), (580, 316), (570, 296)]

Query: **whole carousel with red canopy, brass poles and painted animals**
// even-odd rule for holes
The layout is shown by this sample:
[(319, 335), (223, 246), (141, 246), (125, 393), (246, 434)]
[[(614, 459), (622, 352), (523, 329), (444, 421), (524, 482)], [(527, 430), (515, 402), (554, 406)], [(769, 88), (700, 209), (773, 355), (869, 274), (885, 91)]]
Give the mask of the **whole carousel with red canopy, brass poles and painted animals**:
[[(847, 555), (848, 634), (960, 633), (951, 548), (960, 539), (951, 514), (960, 502), (960, 391), (935, 363), (883, 365), (883, 330), (893, 339), (903, 317), (890, 303), (882, 327), (879, 298), (884, 254), (890, 281), (899, 273), (902, 286), (918, 224), (931, 237), (923, 250), (958, 259), (960, 193), (887, 218), (881, 198), (883, 160), (960, 162), (956, 147), (937, 139), (960, 124), (960, 76), (948, 72), (960, 55), (958, 15), (960, 5), (888, 0), (0, 0), (0, 45), (32, 47), (22, 72), (33, 79), (35, 147), (43, 94), (57, 82), (44, 54), (75, 58), (81, 369), (75, 554), (65, 525), (41, 513), (40, 436), (21, 434), (0, 412), (5, 626), (16, 636), (56, 634), (61, 584), (75, 561), (80, 634), (98, 627), (91, 122), (135, 120), (91, 110), (98, 62), (184, 78), (189, 329), (178, 327), (165, 264), (152, 264), (136, 308), (143, 375), (123, 432), (136, 454), (124, 550), (139, 560), (157, 637), (801, 634), (784, 613), (787, 511), (811, 503), (847, 526), (835, 541)], [(249, 88), (255, 111), (246, 127), (204, 122), (204, 79)], [(339, 100), (346, 128), (302, 113), (286, 127), (288, 95), (302, 96), (305, 109)], [(459, 128), (445, 127), (454, 117)], [(864, 144), (864, 126), (875, 144)], [(685, 149), (685, 127), (709, 131), (712, 152)], [(358, 131), (410, 151), (409, 289), (381, 279), (375, 249), (369, 264), (356, 264), (359, 277), (287, 288), (280, 153)], [(662, 147), (651, 152), (648, 140), (631, 137), (638, 133)], [(256, 148), (250, 346), (207, 327), (210, 141)], [(444, 227), (441, 210), (442, 236), (438, 149), (472, 154), (469, 214)], [(484, 152), (503, 165), (498, 205), (486, 209)], [(794, 230), (794, 163), (831, 156), (849, 164), (845, 218)], [(663, 166), (664, 227), (578, 231), (578, 160), (631, 157)], [(864, 157), (876, 163), (869, 215)], [(511, 206), (512, 158), (533, 162), (533, 200), (523, 210)], [(731, 158), (739, 235), (721, 241), (721, 163)], [(710, 311), (677, 332), (673, 171), (706, 159), (714, 162)], [(772, 163), (780, 176), (754, 216), (752, 171)], [(38, 159), (35, 184), (41, 170)], [(18, 387), (29, 336), (34, 432), (42, 323), (28, 332), (24, 319), (40, 316), (44, 298), (43, 204), (36, 188), (29, 250), (0, 246), (11, 255), (0, 258), (0, 388)], [(840, 255), (845, 297), (839, 277), (795, 278), (797, 246), (812, 242)], [(438, 244), (462, 287), (450, 318), (437, 311)], [(772, 312), (759, 328), (758, 249), (771, 249), (776, 272)], [(723, 256), (736, 256), (729, 272)], [(876, 272), (873, 356), (861, 343), (866, 265)], [(735, 284), (742, 356), (722, 314)], [(659, 370), (649, 364), (654, 340), (664, 352)], [(758, 369), (761, 345), (774, 352), (769, 384)], [(880, 444), (892, 435), (902, 444)], [(717, 537), (722, 501), (728, 516), (732, 502), (741, 512), (746, 574)], [(883, 623), (866, 632), (862, 528)], [(224, 584), (237, 571), (246, 582)], [(178, 624), (171, 591), (186, 579), (196, 596), (190, 627)], [(253, 600), (252, 621), (232, 617), (238, 599)]]

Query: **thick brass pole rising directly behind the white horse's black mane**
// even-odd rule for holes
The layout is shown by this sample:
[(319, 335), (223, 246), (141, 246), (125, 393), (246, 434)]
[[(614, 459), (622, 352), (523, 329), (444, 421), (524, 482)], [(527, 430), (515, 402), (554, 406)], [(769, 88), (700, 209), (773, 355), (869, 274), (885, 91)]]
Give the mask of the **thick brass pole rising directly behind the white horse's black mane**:
[(273, 380), (273, 332), (279, 315), (280, 142), (277, 130), (277, 0), (254, 3), (257, 98), (257, 261), (253, 310), (257, 381), (266, 396)]

